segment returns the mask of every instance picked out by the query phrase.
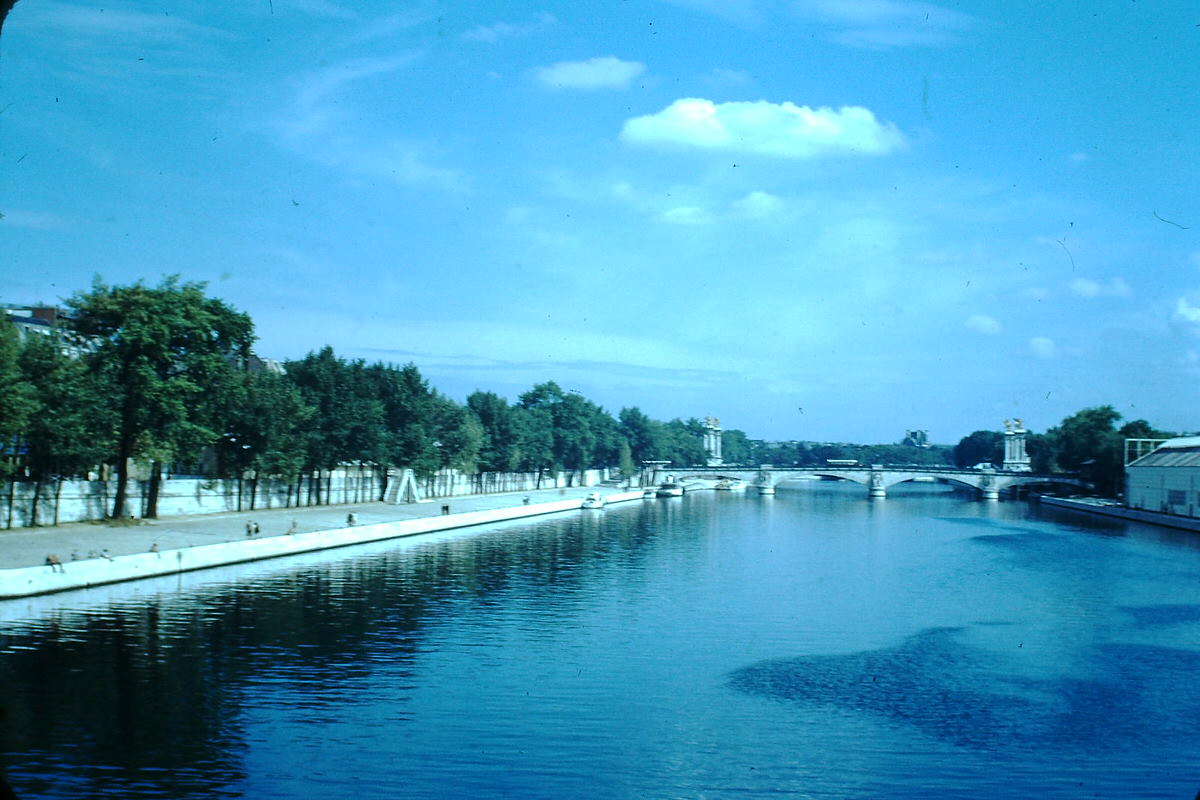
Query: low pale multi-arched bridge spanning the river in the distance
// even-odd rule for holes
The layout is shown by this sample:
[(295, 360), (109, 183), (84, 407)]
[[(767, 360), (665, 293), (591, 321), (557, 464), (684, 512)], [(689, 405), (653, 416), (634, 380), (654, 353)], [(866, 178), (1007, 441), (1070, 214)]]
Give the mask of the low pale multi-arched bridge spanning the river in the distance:
[(650, 473), (652, 482), (664, 475), (679, 477), (736, 479), (751, 483), (760, 491), (773, 491), (784, 481), (811, 477), (835, 477), (862, 483), (869, 497), (886, 498), (888, 489), (908, 481), (955, 483), (974, 489), (985, 500), (1000, 499), (1000, 493), (1018, 486), (1060, 485), (1087, 488), (1088, 485), (1063, 475), (1034, 475), (1002, 469), (958, 469), (954, 467), (923, 467), (918, 464), (872, 464), (870, 467), (659, 467)]

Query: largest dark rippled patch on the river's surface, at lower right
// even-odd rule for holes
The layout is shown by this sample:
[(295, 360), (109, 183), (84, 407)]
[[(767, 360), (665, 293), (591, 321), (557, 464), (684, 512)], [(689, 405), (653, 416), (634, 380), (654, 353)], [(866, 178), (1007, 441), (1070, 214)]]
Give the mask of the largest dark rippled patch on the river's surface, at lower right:
[(730, 684), (997, 753), (1170, 748), (1200, 733), (1198, 651), (1102, 644), (1085, 651), (1087, 676), (1048, 679), (998, 672), (996, 658), (964, 644), (962, 631), (930, 628), (894, 648), (763, 661), (732, 673)]

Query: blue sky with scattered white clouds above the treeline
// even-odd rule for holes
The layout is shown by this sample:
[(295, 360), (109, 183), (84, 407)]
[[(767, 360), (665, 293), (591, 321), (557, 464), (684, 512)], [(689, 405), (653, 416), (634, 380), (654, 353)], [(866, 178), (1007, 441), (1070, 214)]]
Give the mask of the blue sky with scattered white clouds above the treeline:
[(0, 302), (179, 275), (266, 357), (751, 438), (1196, 431), (1198, 53), (1170, 0), (19, 0)]

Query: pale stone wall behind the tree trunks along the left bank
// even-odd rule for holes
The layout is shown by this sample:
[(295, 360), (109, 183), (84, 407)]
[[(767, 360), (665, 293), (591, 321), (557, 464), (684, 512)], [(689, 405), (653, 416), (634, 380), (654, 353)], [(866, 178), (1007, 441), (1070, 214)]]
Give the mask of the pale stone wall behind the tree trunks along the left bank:
[[(445, 469), (418, 480), (418, 486), (425, 498), (446, 498), (593, 486), (606, 477), (607, 470), (542, 473), (539, 476), (536, 473), (464, 475)], [(166, 479), (158, 489), (158, 516), (311, 506), (317, 505), (318, 499), (320, 505), (371, 503), (383, 494), (383, 479), (382, 473), (368, 468), (324, 470), (293, 481)], [(149, 486), (149, 481), (130, 481), (126, 504), (130, 515), (144, 515)], [(112, 511), (115, 493), (116, 481), (55, 481), (41, 486), (25, 481), (0, 483), (0, 529), (103, 519)]]

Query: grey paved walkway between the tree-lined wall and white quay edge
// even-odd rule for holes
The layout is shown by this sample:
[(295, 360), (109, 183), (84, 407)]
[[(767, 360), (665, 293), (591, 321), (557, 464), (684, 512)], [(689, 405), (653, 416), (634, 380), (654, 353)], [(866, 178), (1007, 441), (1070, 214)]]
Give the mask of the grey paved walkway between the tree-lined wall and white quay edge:
[[(385, 503), (359, 503), (331, 506), (302, 506), (299, 509), (271, 509), (269, 511), (230, 511), (223, 513), (193, 515), (145, 519), (138, 524), (110, 525), (107, 523), (66, 523), (53, 528), (14, 528), (0, 530), (0, 570), (46, 564), (46, 557), (54, 554), (61, 561), (95, 558), (107, 551), (108, 555), (146, 553), (157, 545), (169, 551), (197, 545), (216, 545), (246, 539), (246, 523), (257, 523), (259, 537), (280, 536), (289, 533), (308, 533), (344, 528), (347, 515), (354, 513), (358, 524), (396, 522), (419, 517), (436, 517), (442, 506), (450, 506), (451, 513), (486, 511), (523, 504), (523, 498), (533, 503), (568, 500), (587, 495), (596, 487), (569, 489), (540, 489), (504, 494), (469, 494), (454, 498), (390, 505)], [(610, 489), (612, 491), (612, 489)], [(74, 558), (72, 558), (74, 557)]]

